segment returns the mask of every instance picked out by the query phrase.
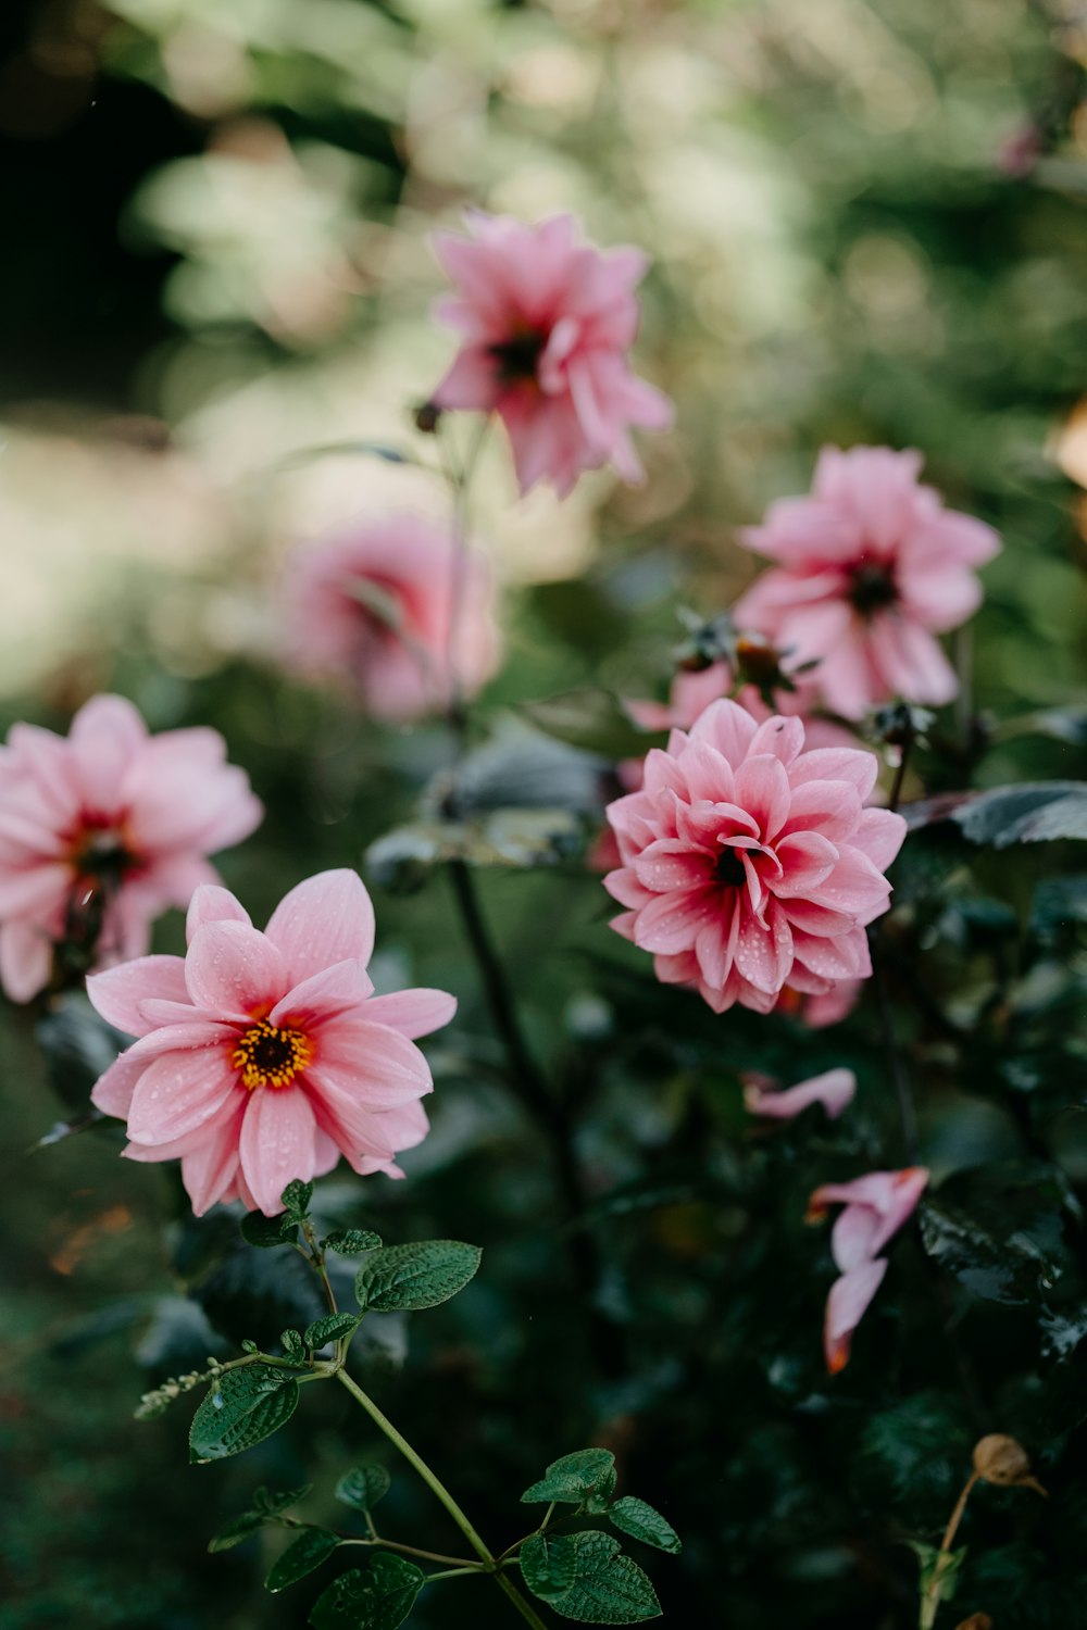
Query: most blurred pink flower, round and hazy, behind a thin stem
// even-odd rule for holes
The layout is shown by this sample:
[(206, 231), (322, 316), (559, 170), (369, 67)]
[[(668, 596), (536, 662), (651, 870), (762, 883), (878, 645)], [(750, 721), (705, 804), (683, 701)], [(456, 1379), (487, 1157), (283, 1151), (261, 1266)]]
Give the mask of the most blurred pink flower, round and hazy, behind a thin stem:
[(297, 549), (282, 603), (287, 660), (345, 681), (380, 719), (447, 706), (450, 668), (473, 696), (499, 665), (487, 561), (422, 515), (359, 520)]

